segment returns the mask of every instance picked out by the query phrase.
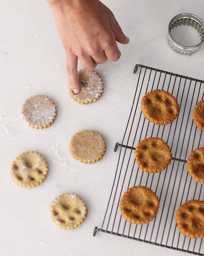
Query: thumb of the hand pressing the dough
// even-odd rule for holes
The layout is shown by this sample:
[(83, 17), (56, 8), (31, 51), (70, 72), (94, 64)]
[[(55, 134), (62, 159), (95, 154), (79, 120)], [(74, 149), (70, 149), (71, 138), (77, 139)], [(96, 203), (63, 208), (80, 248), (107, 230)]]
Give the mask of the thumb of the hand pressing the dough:
[(118, 41), (118, 43), (122, 43), (122, 44), (129, 43), (130, 39), (127, 36), (125, 36), (124, 33), (122, 32), (122, 29), (118, 24), (118, 21), (115, 19), (115, 16), (109, 19), (109, 24), (111, 26), (111, 30), (113, 31), (113, 34), (115, 35), (115, 40)]

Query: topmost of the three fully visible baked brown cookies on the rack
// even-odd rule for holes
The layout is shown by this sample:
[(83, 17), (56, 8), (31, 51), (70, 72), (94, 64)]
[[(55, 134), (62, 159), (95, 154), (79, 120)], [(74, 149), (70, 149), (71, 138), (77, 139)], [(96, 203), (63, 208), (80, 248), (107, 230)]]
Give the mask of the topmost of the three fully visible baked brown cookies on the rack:
[(149, 121), (157, 125), (166, 125), (177, 118), (179, 104), (169, 92), (154, 90), (142, 98), (141, 110)]

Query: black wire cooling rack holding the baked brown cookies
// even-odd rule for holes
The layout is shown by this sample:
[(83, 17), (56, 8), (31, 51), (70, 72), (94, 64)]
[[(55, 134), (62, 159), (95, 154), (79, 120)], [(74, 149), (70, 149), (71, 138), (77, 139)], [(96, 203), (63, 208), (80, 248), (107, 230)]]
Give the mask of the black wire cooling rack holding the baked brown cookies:
[[(190, 239), (182, 235), (175, 223), (177, 208), (190, 199), (204, 199), (201, 183), (191, 179), (186, 169), (186, 159), (191, 152), (203, 146), (204, 135), (193, 122), (193, 109), (204, 97), (204, 81), (173, 74), (137, 64), (135, 95), (125, 133), (118, 147), (119, 156), (111, 195), (106, 208), (102, 227), (97, 231), (131, 238), (192, 254), (203, 255), (201, 238)], [(180, 104), (178, 117), (168, 125), (155, 125), (144, 118), (140, 109), (142, 97), (148, 91), (164, 89), (172, 93)], [(171, 148), (171, 164), (159, 173), (146, 173), (135, 163), (135, 146), (148, 137), (159, 137)], [(201, 145), (202, 144), (202, 145)], [(151, 188), (160, 199), (160, 208), (153, 221), (144, 225), (127, 222), (120, 213), (119, 203), (124, 192), (132, 186)]]

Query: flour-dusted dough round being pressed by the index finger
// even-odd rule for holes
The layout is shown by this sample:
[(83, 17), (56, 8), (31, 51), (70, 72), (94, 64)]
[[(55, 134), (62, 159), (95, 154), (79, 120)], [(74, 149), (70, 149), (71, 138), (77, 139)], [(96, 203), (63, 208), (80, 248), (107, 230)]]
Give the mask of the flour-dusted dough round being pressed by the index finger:
[(80, 83), (80, 93), (74, 94), (71, 88), (69, 93), (74, 100), (82, 104), (89, 104), (98, 100), (103, 93), (103, 82), (95, 71), (78, 70), (78, 79)]

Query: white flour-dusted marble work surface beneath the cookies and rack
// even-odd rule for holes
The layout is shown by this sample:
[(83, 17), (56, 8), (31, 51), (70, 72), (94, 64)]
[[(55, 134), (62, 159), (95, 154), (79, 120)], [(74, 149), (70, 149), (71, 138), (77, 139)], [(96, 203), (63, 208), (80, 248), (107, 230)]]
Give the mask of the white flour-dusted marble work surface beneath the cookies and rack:
[[(75, 102), (67, 90), (65, 54), (44, 0), (0, 2), (0, 255), (1, 256), (159, 256), (186, 255), (179, 251), (97, 233), (111, 191), (120, 141), (135, 91), (133, 68), (141, 63), (204, 79), (204, 45), (192, 56), (173, 52), (166, 42), (169, 20), (191, 12), (204, 19), (203, 0), (104, 0), (114, 12), (129, 45), (122, 57), (96, 69), (104, 80), (100, 100), (87, 106)], [(58, 117), (44, 130), (28, 127), (20, 116), (24, 100), (44, 94), (57, 104)], [(71, 136), (95, 129), (105, 138), (107, 151), (99, 163), (78, 163), (69, 153)], [(13, 183), (9, 169), (21, 152), (36, 150), (49, 163), (49, 175), (36, 188)], [(60, 193), (84, 199), (89, 215), (73, 231), (51, 222), (49, 206)]]

